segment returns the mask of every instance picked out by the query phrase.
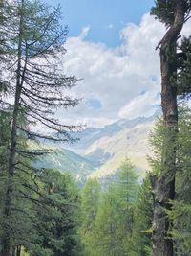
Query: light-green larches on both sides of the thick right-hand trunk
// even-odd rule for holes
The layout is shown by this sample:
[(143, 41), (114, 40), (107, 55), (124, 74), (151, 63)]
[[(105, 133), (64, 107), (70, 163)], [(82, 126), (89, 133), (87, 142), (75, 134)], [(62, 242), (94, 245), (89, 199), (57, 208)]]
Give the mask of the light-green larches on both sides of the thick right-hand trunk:
[[(166, 239), (174, 243), (175, 255), (191, 255), (191, 110), (180, 108), (177, 137), (176, 196), (169, 201), (167, 216), (171, 223)], [(96, 179), (86, 183), (81, 201), (80, 234), (87, 256), (150, 256), (155, 209), (154, 184), (160, 175), (166, 130), (161, 119), (151, 136), (155, 152), (149, 158), (152, 170), (143, 181), (126, 160), (118, 179), (105, 190)], [(163, 255), (163, 254), (160, 254)]]

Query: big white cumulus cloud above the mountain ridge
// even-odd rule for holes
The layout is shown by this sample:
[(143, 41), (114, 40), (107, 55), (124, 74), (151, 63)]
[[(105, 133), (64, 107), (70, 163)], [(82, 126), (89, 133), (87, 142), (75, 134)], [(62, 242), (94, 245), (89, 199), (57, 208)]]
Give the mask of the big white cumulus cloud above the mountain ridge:
[[(189, 25), (184, 29), (186, 34), (191, 32)], [(121, 45), (115, 49), (87, 41), (89, 30), (84, 28), (66, 42), (64, 72), (83, 79), (72, 91), (83, 100), (68, 112), (60, 109), (59, 117), (71, 123), (81, 120), (103, 126), (124, 117), (152, 114), (159, 105), (160, 91), (159, 52), (155, 48), (165, 28), (145, 14), (139, 26), (127, 24), (123, 28)], [(99, 107), (90, 105), (91, 101), (98, 101)]]

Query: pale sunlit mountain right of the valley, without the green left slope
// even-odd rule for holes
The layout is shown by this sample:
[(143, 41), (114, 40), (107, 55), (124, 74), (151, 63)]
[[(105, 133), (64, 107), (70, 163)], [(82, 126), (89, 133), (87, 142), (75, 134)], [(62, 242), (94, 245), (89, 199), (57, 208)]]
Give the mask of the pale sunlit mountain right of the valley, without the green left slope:
[(149, 169), (147, 155), (151, 154), (149, 135), (159, 113), (151, 117), (119, 120), (104, 128), (87, 128), (74, 134), (80, 141), (70, 147), (96, 166), (89, 176), (110, 179), (117, 174), (122, 161), (129, 158), (140, 176)]

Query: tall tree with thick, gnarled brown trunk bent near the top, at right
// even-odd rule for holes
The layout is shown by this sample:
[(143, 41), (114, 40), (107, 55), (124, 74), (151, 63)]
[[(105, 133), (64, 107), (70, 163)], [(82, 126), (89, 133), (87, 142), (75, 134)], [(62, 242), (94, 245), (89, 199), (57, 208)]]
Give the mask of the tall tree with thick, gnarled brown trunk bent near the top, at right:
[[(164, 138), (159, 175), (153, 182), (154, 220), (153, 251), (154, 256), (174, 255), (173, 239), (169, 234), (171, 221), (167, 211), (171, 210), (170, 200), (175, 198), (175, 175), (177, 159), (179, 80), (183, 52), (178, 40), (184, 23), (189, 19), (191, 1), (157, 0), (152, 9), (159, 21), (164, 23), (167, 31), (157, 49), (160, 54), (161, 69), (161, 106), (163, 113)], [(184, 69), (184, 68), (183, 68)], [(183, 86), (183, 84), (181, 84)], [(190, 88), (188, 88), (190, 90)], [(186, 90), (186, 93), (188, 92)]]

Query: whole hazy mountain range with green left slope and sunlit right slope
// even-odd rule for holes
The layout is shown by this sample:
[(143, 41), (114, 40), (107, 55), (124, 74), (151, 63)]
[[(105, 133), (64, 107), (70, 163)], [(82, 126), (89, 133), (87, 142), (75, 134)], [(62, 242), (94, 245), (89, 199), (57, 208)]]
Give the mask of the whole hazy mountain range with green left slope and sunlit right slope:
[(104, 128), (86, 128), (74, 132), (80, 140), (73, 145), (47, 145), (52, 153), (36, 164), (40, 167), (70, 172), (80, 183), (97, 177), (102, 183), (115, 179), (122, 161), (129, 158), (140, 178), (149, 169), (147, 155), (151, 154), (149, 134), (159, 113), (151, 117), (122, 119)]

